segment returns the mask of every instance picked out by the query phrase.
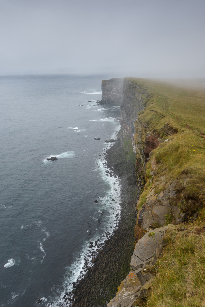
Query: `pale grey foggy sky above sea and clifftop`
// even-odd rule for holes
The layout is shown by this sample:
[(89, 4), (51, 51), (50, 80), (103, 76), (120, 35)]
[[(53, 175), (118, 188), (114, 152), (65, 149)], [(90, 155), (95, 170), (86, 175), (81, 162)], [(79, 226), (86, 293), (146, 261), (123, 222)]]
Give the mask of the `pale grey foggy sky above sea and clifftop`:
[(0, 0), (0, 75), (205, 77), (204, 0)]

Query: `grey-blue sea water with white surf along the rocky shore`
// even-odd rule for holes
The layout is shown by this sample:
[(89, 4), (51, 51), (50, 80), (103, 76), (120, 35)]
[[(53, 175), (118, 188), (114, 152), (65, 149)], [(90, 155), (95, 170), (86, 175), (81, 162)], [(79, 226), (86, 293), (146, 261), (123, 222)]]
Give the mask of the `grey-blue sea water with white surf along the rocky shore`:
[(120, 108), (96, 103), (107, 78), (0, 77), (0, 306), (59, 305), (95, 254), (89, 242), (117, 227), (121, 187), (101, 153)]

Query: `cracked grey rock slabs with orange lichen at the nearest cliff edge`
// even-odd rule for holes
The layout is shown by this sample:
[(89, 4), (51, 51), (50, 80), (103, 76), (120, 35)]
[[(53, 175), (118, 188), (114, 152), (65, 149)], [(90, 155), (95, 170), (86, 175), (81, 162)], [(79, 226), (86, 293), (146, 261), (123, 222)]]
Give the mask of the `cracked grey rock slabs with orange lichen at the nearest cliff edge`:
[(152, 265), (155, 264), (165, 245), (163, 237), (167, 229), (176, 229), (176, 226), (160, 227), (147, 232), (135, 245), (131, 258), (131, 271), (121, 282), (116, 297), (110, 300), (107, 307), (135, 307), (141, 299), (149, 294), (154, 280)]

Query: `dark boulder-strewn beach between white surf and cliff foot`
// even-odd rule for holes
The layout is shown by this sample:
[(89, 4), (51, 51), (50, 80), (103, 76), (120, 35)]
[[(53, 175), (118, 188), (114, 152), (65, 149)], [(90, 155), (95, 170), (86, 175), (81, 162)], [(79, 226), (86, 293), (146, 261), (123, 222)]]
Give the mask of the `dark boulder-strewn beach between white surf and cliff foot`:
[(92, 259), (94, 266), (88, 267), (84, 278), (73, 285), (72, 293), (65, 293), (64, 301), (61, 301), (60, 306), (64, 304), (76, 307), (106, 306), (110, 299), (115, 297), (118, 286), (130, 271), (130, 258), (135, 244), (134, 226), (136, 224), (134, 165), (127, 161), (119, 140), (110, 149), (100, 154), (106, 157), (106, 167), (110, 169), (108, 176), (118, 175), (121, 181), (119, 227), (113, 232), (110, 227), (108, 231), (112, 235), (110, 239), (104, 241), (99, 254)]

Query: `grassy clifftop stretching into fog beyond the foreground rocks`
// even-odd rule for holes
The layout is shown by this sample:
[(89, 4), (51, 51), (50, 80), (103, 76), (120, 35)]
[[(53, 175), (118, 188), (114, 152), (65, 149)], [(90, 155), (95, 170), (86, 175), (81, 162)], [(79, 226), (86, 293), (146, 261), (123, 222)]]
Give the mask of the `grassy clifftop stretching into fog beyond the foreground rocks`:
[[(205, 87), (187, 89), (159, 81), (130, 78), (146, 90), (150, 98), (144, 101), (144, 110), (138, 114), (138, 123), (147, 132), (158, 132), (163, 141), (153, 154), (157, 170), (150, 182), (151, 160), (146, 164), (146, 185), (138, 208), (145, 201), (149, 189), (161, 192), (174, 180), (183, 189), (184, 197), (205, 200)], [(164, 125), (173, 128), (175, 134), (164, 135)], [(143, 129), (142, 129), (143, 130)], [(145, 137), (144, 137), (145, 141)], [(137, 142), (137, 138), (136, 138)], [(145, 143), (144, 143), (145, 147)], [(186, 185), (184, 186), (184, 179)], [(181, 186), (181, 187), (180, 187)]]

